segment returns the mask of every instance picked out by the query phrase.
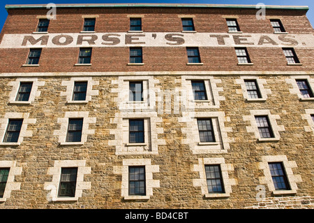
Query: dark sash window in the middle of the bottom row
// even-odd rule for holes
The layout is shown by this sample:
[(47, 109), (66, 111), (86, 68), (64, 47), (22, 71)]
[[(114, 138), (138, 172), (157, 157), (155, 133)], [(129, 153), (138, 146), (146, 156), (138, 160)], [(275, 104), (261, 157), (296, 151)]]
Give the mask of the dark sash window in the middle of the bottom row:
[(128, 167), (128, 194), (146, 195), (145, 166)]

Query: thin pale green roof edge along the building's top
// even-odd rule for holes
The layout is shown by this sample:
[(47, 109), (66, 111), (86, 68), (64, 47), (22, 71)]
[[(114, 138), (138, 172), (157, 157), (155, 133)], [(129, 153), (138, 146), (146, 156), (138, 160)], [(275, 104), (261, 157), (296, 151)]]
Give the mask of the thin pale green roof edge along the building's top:
[[(243, 8), (243, 9), (259, 9), (257, 5), (229, 5), (229, 4), (198, 4), (198, 3), (60, 3), (56, 4), (57, 8)], [(5, 6), (8, 9), (17, 8), (47, 8), (47, 4), (20, 4)], [(308, 6), (265, 6), (266, 9), (281, 10), (308, 10)]]

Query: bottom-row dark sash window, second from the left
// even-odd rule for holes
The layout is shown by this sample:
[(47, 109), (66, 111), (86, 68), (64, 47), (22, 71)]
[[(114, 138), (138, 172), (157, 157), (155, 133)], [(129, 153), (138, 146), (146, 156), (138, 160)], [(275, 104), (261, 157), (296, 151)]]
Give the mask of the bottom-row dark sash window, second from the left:
[(59, 196), (75, 196), (77, 167), (61, 168)]

